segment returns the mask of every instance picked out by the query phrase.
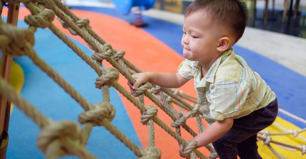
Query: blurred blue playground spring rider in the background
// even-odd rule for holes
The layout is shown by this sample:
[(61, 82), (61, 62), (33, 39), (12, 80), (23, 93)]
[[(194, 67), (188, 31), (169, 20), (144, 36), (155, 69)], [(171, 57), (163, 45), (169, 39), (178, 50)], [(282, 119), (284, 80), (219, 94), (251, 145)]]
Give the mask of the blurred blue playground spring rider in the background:
[(150, 9), (154, 4), (154, 0), (114, 0), (113, 3), (121, 14), (127, 15), (131, 11), (134, 13), (133, 25), (145, 27), (147, 23), (144, 23), (142, 19), (141, 10)]

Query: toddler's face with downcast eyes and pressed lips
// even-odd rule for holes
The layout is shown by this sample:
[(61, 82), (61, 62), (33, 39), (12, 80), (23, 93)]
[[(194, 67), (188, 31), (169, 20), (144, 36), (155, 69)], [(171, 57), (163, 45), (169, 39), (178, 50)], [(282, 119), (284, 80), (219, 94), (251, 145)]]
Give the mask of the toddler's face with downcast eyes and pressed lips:
[(187, 16), (183, 25), (181, 45), (186, 59), (210, 63), (216, 56), (218, 39), (222, 31), (206, 11), (196, 11)]

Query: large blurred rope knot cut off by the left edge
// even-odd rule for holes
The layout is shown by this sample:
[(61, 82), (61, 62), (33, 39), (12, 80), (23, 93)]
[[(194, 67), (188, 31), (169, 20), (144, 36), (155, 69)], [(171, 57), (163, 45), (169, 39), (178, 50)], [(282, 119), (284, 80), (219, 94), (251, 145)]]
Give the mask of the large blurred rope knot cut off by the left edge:
[(0, 49), (12, 56), (23, 56), (35, 43), (34, 33), (28, 29), (17, 29), (10, 24), (0, 25)]

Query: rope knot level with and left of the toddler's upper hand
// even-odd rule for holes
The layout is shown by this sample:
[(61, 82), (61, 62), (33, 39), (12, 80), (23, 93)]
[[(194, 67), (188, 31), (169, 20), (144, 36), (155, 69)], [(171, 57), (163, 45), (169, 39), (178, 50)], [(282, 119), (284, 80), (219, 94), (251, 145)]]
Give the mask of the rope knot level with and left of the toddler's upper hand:
[(103, 73), (99, 78), (95, 81), (95, 87), (102, 89), (104, 85), (110, 85), (114, 81), (118, 81), (119, 72), (115, 68), (106, 68), (105, 73)]

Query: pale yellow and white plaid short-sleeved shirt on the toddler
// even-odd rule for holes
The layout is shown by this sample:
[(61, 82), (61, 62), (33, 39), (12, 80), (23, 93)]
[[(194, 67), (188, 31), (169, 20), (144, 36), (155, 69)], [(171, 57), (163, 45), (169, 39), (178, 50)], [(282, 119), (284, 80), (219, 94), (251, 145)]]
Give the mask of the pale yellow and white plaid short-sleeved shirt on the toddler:
[(235, 119), (266, 107), (276, 98), (266, 82), (231, 48), (201, 78), (201, 64), (185, 59), (178, 72), (194, 78), (203, 116), (209, 125), (227, 117)]

